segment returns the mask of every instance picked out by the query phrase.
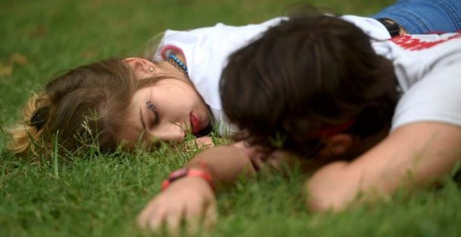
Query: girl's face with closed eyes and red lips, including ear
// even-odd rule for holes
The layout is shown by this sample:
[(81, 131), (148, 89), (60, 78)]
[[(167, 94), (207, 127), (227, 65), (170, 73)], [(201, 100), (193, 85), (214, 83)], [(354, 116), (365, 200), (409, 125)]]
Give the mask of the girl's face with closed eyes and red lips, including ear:
[[(147, 68), (137, 65), (139, 61), (126, 59), (125, 62), (135, 71), (137, 78), (166, 74), (166, 70), (177, 71), (173, 66), (162, 69), (145, 59), (136, 60), (141, 60)], [(187, 80), (185, 77), (160, 79), (136, 91), (119, 139), (130, 144), (138, 141), (182, 142), (189, 132), (197, 134), (207, 128), (210, 123), (207, 105)]]

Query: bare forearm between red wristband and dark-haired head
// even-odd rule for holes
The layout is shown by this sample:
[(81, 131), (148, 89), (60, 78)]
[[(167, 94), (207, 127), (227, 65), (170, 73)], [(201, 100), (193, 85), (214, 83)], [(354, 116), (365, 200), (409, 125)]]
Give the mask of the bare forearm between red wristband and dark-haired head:
[(254, 174), (248, 155), (235, 146), (217, 146), (207, 149), (189, 162), (187, 167), (207, 169), (215, 183), (229, 185), (237, 178)]

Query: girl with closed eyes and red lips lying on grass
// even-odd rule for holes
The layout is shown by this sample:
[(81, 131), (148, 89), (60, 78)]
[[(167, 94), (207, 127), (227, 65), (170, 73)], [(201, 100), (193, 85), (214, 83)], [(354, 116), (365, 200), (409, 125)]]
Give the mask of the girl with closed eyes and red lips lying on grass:
[[(383, 24), (391, 24), (388, 28), (393, 34), (404, 29), (416, 33), (459, 29), (456, 22), (441, 20), (449, 18), (449, 11), (434, 8), (437, 14), (426, 19), (417, 14), (424, 8), (419, 1), (410, 2), (410, 6), (399, 3), (379, 13), (387, 19), (383, 23), (367, 17), (343, 19), (376, 39), (390, 38)], [(455, 4), (459, 5), (453, 1), (447, 7), (455, 8)], [(429, 24), (418, 28), (409, 24), (411, 20), (397, 14), (401, 8), (413, 8), (414, 15)], [(14, 153), (46, 154), (56, 140), (60, 150), (96, 144), (101, 151), (113, 151), (120, 144), (132, 149), (137, 144), (182, 142), (186, 134), (206, 136), (215, 123), (220, 136), (226, 135), (226, 128), (235, 132), (221, 108), (221, 70), (229, 54), (282, 19), (237, 27), (217, 24), (192, 31), (168, 30), (149, 60), (110, 59), (68, 70), (30, 98), (21, 122), (9, 129), (13, 138), (7, 147)], [(392, 20), (405, 23), (399, 28)], [(199, 144), (210, 142), (210, 137), (198, 139)]]

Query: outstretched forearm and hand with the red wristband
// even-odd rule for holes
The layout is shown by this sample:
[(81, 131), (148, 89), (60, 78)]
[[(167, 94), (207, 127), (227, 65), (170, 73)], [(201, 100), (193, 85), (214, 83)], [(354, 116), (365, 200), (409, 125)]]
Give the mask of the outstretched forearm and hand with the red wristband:
[[(207, 149), (186, 167), (211, 174), (213, 185), (229, 185), (237, 178), (254, 174), (249, 155), (253, 152), (242, 146), (217, 146)], [(158, 230), (163, 223), (174, 233), (181, 220), (193, 233), (203, 217), (205, 226), (216, 219), (215, 197), (205, 178), (186, 176), (171, 183), (141, 211), (138, 224)]]

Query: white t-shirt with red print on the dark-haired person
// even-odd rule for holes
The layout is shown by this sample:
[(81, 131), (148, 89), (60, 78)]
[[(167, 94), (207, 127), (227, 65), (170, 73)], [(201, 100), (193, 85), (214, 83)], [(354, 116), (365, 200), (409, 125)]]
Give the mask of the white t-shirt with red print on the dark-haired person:
[(402, 90), (391, 130), (418, 121), (461, 126), (461, 34), (404, 35), (372, 43), (393, 61)]

